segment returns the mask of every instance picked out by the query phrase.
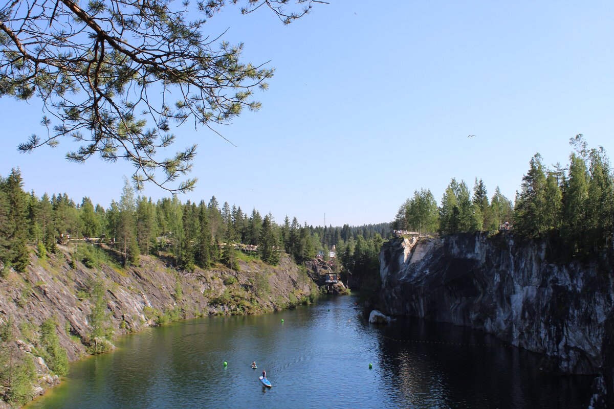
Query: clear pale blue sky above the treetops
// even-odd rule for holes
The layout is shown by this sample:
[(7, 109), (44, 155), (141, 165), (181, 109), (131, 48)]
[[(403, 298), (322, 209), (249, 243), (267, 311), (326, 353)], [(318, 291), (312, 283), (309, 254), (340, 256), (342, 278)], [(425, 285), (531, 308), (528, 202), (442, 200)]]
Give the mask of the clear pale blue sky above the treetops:
[[(220, 202), (341, 226), (391, 221), (452, 177), (513, 200), (536, 152), (567, 163), (569, 138), (614, 155), (614, 2), (330, 0), (289, 26), (268, 10), (229, 6), (206, 34), (244, 42), (244, 61), (271, 61), (263, 107), (217, 128), (175, 129), (198, 143), (185, 202)], [(17, 152), (39, 126), (37, 101), (0, 99), (0, 175), (20, 167), (24, 188), (119, 200), (127, 162), (77, 165), (60, 147)], [(468, 137), (469, 135), (475, 135)], [(146, 196), (169, 196), (148, 186)]]

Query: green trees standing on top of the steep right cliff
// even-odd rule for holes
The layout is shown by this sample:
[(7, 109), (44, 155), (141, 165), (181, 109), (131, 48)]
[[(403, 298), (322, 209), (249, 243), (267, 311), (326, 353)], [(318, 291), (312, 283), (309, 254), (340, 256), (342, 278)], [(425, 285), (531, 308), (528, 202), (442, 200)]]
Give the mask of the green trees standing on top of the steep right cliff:
[(614, 175), (602, 147), (589, 149), (583, 136), (570, 139), (565, 167), (546, 167), (536, 153), (523, 176), (515, 203), (500, 193), (488, 199), (486, 186), (452, 179), (438, 206), (430, 190), (416, 191), (398, 210), (393, 229), (441, 234), (494, 231), (513, 224), (520, 239), (545, 239), (551, 254), (586, 258), (613, 250)]

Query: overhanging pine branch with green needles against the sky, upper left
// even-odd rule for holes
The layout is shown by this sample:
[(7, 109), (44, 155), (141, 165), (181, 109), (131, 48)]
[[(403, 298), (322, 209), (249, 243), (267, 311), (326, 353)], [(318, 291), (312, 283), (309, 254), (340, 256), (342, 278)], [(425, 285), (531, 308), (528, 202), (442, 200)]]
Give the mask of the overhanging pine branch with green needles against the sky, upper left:
[[(287, 0), (246, 0), (242, 11), (265, 6), (287, 22), (321, 2), (293, 1), (305, 6), (301, 12), (282, 9), (292, 7)], [(55, 118), (42, 121), (46, 138), (33, 135), (18, 149), (55, 146), (70, 137), (80, 144), (67, 153), (70, 161), (95, 154), (104, 161), (122, 158), (136, 169), (135, 186), (191, 188), (195, 180), (171, 185), (192, 169), (196, 145), (170, 159), (158, 157), (158, 150), (173, 143), (171, 122), (181, 125), (193, 117), (195, 126), (230, 142), (212, 124), (229, 123), (244, 108), (257, 110), (253, 90), (267, 88), (273, 69), (241, 62), (243, 44), (214, 46), (223, 33), (203, 36), (206, 20), (188, 21), (184, 6), (174, 7), (172, 0), (11, 0), (0, 6), (0, 96), (36, 96)], [(226, 2), (196, 6), (209, 18)], [(149, 89), (161, 91), (161, 102), (149, 98)], [(176, 102), (169, 105), (173, 94)], [(153, 121), (150, 128), (146, 117)]]

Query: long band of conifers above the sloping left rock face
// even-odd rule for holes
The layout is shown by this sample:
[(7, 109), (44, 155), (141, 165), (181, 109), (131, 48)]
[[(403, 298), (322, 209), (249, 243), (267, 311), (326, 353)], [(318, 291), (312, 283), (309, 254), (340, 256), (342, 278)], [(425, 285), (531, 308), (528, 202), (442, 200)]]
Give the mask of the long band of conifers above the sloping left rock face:
[[(135, 196), (126, 180), (119, 202), (111, 201), (108, 208), (94, 205), (88, 197), (79, 203), (66, 193), (37, 196), (23, 191), (19, 169), (6, 178), (0, 177), (0, 264), (3, 269), (13, 266), (23, 271), (29, 263), (29, 245), (39, 255), (55, 252), (58, 243), (68, 237), (103, 239), (112, 244), (126, 264), (138, 264), (140, 254), (164, 253), (177, 267), (203, 269), (216, 262), (236, 268), (237, 247), (257, 246), (255, 254), (262, 261), (276, 265), (279, 253), (286, 252), (302, 263), (321, 252), (328, 260), (328, 251), (336, 248), (349, 265), (357, 259), (376, 258), (388, 224), (351, 227), (308, 226), (296, 217), (284, 223), (274, 221), (271, 213), (262, 216), (252, 209), (248, 214), (241, 207), (225, 202), (220, 205), (215, 196), (209, 202), (182, 203), (174, 195), (153, 202)], [(379, 244), (378, 244), (379, 243)], [(87, 265), (88, 247), (82, 251)], [(374, 255), (375, 254), (375, 255)], [(372, 260), (371, 260), (372, 261)], [(371, 263), (372, 264), (372, 263)]]

